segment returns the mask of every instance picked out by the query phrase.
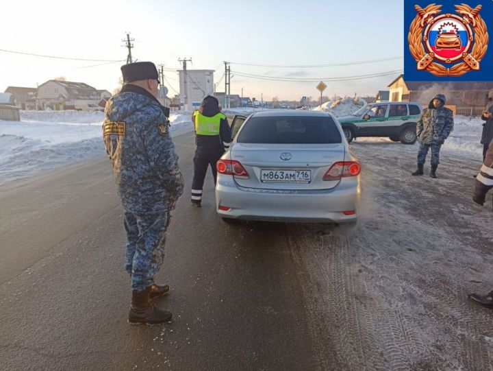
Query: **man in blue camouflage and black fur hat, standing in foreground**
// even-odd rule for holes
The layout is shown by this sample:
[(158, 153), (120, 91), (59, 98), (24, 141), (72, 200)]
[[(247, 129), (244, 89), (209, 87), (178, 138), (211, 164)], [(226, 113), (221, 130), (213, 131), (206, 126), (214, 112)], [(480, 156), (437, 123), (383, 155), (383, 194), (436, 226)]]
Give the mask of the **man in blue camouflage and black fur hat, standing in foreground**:
[(184, 180), (169, 134), (168, 108), (157, 101), (159, 86), (151, 62), (121, 67), (125, 85), (108, 100), (103, 122), (106, 151), (114, 167), (118, 195), (125, 209), (127, 257), (131, 276), (131, 324), (168, 322), (171, 313), (151, 299), (167, 294), (154, 277), (164, 259), (170, 211), (183, 193)]

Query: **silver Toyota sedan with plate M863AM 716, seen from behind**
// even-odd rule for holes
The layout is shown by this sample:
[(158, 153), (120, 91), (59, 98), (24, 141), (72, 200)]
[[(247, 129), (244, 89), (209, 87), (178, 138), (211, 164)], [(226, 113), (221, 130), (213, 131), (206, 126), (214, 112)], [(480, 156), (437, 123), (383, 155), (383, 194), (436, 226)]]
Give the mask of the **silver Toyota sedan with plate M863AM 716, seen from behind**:
[(235, 219), (356, 222), (361, 165), (326, 112), (236, 116), (216, 168), (216, 210)]

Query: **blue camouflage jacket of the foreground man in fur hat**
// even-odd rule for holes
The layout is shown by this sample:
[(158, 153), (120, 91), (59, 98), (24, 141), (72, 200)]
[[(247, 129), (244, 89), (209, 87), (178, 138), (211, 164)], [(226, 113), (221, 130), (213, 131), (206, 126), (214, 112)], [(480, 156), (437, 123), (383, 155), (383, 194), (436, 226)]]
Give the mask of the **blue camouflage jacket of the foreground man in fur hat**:
[(106, 152), (123, 208), (159, 213), (175, 208), (184, 180), (162, 106), (132, 86), (108, 100), (103, 121)]

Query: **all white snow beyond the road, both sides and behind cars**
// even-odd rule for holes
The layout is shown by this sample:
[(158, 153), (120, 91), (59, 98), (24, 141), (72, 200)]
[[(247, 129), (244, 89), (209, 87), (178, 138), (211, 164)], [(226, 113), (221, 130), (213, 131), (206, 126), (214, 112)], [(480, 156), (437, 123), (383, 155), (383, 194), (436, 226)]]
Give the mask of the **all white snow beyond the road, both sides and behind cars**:
[[(353, 98), (327, 102), (323, 110), (336, 117), (355, 112), (362, 101)], [(232, 108), (226, 115), (249, 115), (259, 109)], [(316, 108), (320, 110), (320, 108)], [(286, 111), (286, 110), (282, 110)], [(191, 112), (172, 112), (171, 133), (181, 134), (192, 130)], [(84, 111), (21, 111), (21, 121), (0, 120), (0, 184), (31, 176), (45, 169), (104, 155), (101, 139), (103, 112)], [(454, 152), (466, 158), (481, 158), (479, 144), (481, 119), (455, 117), (455, 128), (443, 146), (443, 153)], [(355, 143), (385, 143), (388, 149), (399, 152), (401, 146), (390, 145), (388, 138), (359, 138)], [(354, 143), (354, 144), (355, 144)], [(417, 144), (415, 145), (417, 146)], [(417, 148), (416, 148), (417, 153)]]

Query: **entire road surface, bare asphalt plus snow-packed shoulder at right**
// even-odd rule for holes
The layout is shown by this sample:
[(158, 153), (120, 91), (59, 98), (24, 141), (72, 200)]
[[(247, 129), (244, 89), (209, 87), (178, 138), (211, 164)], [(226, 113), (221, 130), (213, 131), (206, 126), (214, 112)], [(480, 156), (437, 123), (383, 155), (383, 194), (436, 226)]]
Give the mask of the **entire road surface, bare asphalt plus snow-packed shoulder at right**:
[[(122, 209), (107, 158), (0, 187), (1, 370), (493, 370), (491, 195), (479, 159), (351, 143), (362, 207), (351, 230), (224, 224), (212, 177), (193, 208), (193, 135), (175, 138), (185, 195), (158, 276), (164, 326), (130, 326)], [(429, 171), (429, 168), (426, 168)]]

